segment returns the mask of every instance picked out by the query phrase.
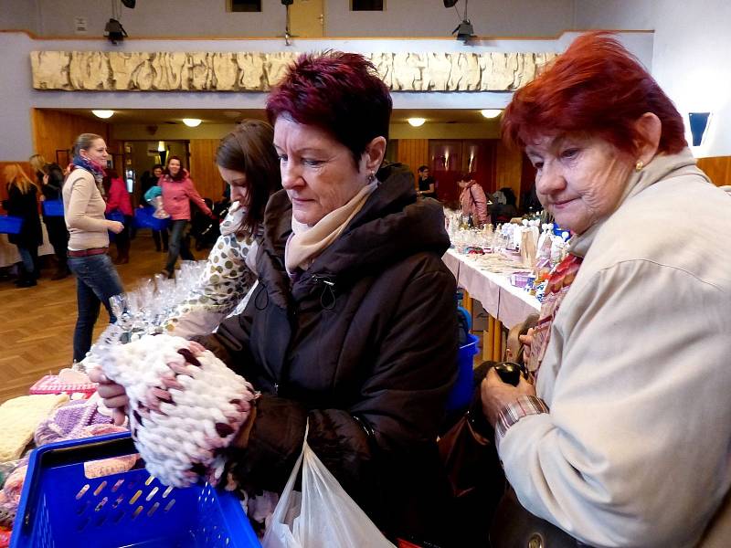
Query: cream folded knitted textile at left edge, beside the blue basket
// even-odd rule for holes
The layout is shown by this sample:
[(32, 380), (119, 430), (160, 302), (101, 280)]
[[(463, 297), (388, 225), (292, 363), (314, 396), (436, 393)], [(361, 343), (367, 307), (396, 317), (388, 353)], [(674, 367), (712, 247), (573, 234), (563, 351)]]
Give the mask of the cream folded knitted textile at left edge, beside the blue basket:
[(0, 406), (0, 462), (19, 458), (41, 421), (68, 401), (67, 394), (21, 395)]

